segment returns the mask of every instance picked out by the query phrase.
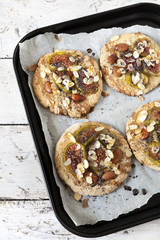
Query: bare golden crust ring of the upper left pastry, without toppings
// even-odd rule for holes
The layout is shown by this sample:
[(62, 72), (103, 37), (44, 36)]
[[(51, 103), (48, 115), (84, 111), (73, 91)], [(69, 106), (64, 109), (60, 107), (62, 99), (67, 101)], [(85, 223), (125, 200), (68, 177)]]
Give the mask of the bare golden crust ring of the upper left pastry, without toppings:
[[(87, 55), (83, 55), (80, 51), (74, 50), (57, 50), (56, 52), (65, 51), (65, 53), (72, 54), (72, 56), (79, 55), (81, 60), (82, 67), (94, 67), (97, 75), (99, 76), (97, 91), (93, 93), (86, 94), (86, 99), (82, 102), (74, 102), (71, 99), (71, 96), (68, 96), (68, 93), (61, 91), (57, 94), (57, 92), (48, 93), (45, 91), (45, 81), (41, 76), (41, 72), (49, 71), (49, 64), (47, 62), (47, 57), (51, 54), (46, 54), (40, 58), (38, 62), (38, 67), (35, 71), (33, 78), (33, 89), (36, 97), (39, 102), (45, 107), (49, 108), (51, 112), (55, 114), (63, 114), (68, 115), (70, 117), (79, 118), (81, 116), (86, 115), (90, 112), (90, 110), (95, 106), (98, 102), (101, 92), (102, 92), (102, 79), (100, 76), (100, 71), (98, 64), (95, 60)], [(70, 103), (69, 106), (65, 104), (66, 98), (69, 97)]]

